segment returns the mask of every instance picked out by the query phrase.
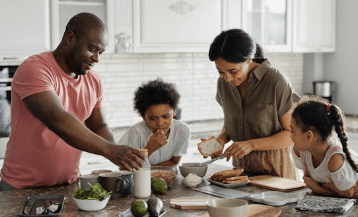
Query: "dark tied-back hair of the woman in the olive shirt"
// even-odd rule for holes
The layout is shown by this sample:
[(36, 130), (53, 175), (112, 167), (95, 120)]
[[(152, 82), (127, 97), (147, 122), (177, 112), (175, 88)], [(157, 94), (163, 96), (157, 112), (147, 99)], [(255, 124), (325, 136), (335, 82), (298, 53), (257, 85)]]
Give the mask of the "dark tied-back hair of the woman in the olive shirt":
[(231, 63), (242, 63), (250, 57), (261, 63), (264, 60), (264, 53), (262, 47), (241, 29), (222, 31), (210, 45), (210, 61), (223, 58)]

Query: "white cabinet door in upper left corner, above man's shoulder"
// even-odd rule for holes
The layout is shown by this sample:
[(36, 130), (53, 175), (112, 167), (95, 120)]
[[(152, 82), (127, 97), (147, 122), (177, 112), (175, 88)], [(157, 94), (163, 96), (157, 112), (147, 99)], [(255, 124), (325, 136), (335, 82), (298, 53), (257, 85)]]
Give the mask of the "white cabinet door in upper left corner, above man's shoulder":
[(23, 60), (50, 50), (48, 0), (0, 1), (0, 61)]

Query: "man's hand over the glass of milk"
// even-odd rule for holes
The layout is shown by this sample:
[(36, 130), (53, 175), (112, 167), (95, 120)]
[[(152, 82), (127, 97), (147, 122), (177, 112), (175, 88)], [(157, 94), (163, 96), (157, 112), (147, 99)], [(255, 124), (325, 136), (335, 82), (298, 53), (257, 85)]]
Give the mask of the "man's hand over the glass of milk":
[(137, 149), (126, 145), (110, 145), (109, 147), (109, 154), (106, 157), (121, 170), (139, 170), (143, 166), (142, 162), (145, 158)]

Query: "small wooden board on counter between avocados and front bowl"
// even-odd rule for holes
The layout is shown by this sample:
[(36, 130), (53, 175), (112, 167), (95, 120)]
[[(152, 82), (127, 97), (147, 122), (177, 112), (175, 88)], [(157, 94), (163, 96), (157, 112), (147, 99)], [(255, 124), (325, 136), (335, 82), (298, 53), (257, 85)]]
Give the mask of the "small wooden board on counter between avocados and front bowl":
[(211, 197), (177, 197), (170, 200), (170, 206), (176, 209), (206, 209), (206, 201)]

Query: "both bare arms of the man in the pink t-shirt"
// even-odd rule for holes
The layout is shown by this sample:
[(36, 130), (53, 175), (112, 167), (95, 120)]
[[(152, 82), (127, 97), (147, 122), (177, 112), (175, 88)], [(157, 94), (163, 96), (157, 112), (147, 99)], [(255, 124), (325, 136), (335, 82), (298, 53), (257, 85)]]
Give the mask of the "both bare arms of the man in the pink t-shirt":
[(105, 124), (96, 124), (96, 119), (103, 119), (98, 117), (99, 111), (94, 111), (86, 124), (99, 135), (107, 137), (106, 139), (93, 133), (77, 117), (68, 113), (54, 91), (30, 95), (24, 98), (23, 102), (37, 119), (72, 147), (102, 155), (127, 170), (139, 169), (142, 166), (140, 158), (144, 159), (144, 156), (138, 150), (115, 145), (106, 140), (113, 141), (113, 138), (105, 135), (104, 128), (107, 127)]

